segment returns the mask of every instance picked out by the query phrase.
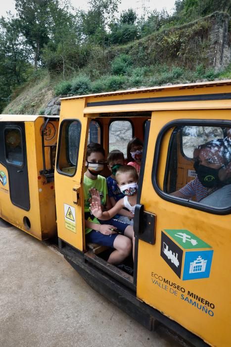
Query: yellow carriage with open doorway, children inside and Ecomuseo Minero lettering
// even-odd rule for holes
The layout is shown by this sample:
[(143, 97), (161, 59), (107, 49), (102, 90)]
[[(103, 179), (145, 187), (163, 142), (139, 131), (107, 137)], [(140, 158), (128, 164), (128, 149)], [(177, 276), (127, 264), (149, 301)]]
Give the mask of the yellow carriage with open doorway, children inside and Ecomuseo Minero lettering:
[[(92, 122), (106, 154), (126, 152), (113, 124), (126, 128), (127, 142), (144, 140), (133, 277), (85, 244), (83, 176)], [(223, 182), (219, 197), (220, 189), (206, 188), (207, 202), (176, 191), (196, 179), (196, 148), (212, 140), (229, 147), (230, 129), (231, 81), (61, 99), (55, 169), (60, 249), (93, 288), (142, 324), (152, 329), (157, 319), (195, 346), (230, 341), (231, 184)], [(229, 160), (222, 170), (230, 170)]]

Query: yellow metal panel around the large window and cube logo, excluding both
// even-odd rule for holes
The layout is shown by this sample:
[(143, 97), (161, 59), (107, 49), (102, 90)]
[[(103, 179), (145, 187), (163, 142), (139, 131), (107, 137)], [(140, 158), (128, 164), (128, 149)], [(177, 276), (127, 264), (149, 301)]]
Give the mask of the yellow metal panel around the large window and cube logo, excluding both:
[[(153, 113), (140, 203), (145, 211), (157, 216), (156, 242), (150, 245), (139, 240), (137, 296), (209, 344), (229, 346), (231, 215), (208, 214), (163, 200), (151, 181), (156, 137), (165, 124), (180, 118), (231, 119), (231, 113), (230, 110)], [(168, 140), (164, 140), (158, 166), (161, 186), (167, 151)], [(209, 278), (183, 281), (176, 275), (160, 256), (161, 231), (166, 229), (186, 229), (212, 247)]]

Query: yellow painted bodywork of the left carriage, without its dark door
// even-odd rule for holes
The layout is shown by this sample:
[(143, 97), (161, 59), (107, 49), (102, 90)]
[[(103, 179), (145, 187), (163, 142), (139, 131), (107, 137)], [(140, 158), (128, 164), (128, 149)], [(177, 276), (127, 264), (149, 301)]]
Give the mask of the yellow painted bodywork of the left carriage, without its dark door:
[[(28, 120), (27, 120), (28, 119)], [(47, 183), (40, 175), (43, 169), (41, 127), (44, 124), (42, 116), (1, 116), (0, 121), (23, 121), (25, 123), (28, 179), (30, 191), (30, 209), (25, 211), (10, 200), (9, 179), (6, 168), (0, 164), (0, 170), (6, 172), (7, 183), (0, 187), (0, 217), (17, 228), (28, 232), (42, 240), (54, 236), (57, 232), (55, 218), (54, 182)], [(58, 122), (53, 122), (56, 135), (52, 139), (57, 141)], [(24, 218), (30, 221), (30, 228), (25, 225)]]

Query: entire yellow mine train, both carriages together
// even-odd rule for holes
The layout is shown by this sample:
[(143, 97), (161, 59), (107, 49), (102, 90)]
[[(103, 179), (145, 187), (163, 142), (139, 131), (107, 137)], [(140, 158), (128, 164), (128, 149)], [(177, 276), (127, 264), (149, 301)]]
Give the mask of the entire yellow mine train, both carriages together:
[[(143, 156), (131, 276), (85, 242), (83, 176), (88, 143), (126, 158), (134, 136)], [(173, 193), (197, 179), (198, 146), (230, 138), (231, 80), (66, 97), (60, 116), (0, 115), (0, 217), (56, 236), (89, 285), (149, 330), (160, 322), (194, 346), (229, 346), (231, 184), (205, 202)]]

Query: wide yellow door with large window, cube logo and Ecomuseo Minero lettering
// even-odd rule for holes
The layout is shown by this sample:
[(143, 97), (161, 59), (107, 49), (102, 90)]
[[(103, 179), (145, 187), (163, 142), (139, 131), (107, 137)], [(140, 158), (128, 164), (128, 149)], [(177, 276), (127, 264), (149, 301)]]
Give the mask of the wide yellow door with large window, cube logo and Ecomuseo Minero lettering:
[[(214, 346), (230, 336), (230, 128), (229, 110), (152, 113), (135, 212), (138, 298)], [(183, 156), (200, 166), (185, 195)]]

